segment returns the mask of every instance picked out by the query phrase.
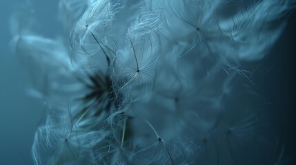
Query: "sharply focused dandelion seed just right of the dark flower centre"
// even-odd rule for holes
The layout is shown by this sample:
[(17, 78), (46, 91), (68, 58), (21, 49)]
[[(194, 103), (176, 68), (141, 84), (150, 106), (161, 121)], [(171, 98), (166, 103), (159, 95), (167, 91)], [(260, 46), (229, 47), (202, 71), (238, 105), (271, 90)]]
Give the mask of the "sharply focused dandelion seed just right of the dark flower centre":
[(128, 100), (145, 96), (154, 85), (159, 29), (159, 17), (149, 12), (140, 14), (128, 28), (128, 47), (117, 52), (114, 78), (117, 89), (124, 90)]

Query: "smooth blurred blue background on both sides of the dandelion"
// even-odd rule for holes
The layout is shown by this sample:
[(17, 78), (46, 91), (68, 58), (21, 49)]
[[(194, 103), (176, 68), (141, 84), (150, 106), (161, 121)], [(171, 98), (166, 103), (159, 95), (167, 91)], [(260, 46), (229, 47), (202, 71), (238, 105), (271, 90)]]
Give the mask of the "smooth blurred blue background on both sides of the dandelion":
[[(22, 8), (23, 0), (0, 1), (0, 164), (32, 164), (30, 149), (34, 132), (39, 126), (43, 102), (26, 94), (30, 84), (22, 61), (10, 49), (11, 15)], [(35, 0), (32, 14), (41, 25), (34, 25), (35, 32), (55, 38), (59, 31), (57, 23), (57, 0)], [(284, 34), (274, 45), (270, 54), (256, 63), (258, 67), (252, 78), (270, 104), (270, 114), (279, 141), (284, 144), (284, 158), (293, 159), (296, 148), (296, 13), (291, 15)], [(47, 33), (44, 33), (47, 32)], [(288, 161), (288, 162), (294, 162)]]

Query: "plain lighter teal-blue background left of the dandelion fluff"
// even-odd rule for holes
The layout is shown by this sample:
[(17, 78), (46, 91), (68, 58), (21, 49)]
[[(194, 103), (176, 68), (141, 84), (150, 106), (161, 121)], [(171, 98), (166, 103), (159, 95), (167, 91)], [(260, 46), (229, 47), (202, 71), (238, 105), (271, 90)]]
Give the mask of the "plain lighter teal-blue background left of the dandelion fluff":
[[(33, 164), (31, 146), (34, 132), (39, 126), (43, 102), (26, 94), (30, 79), (22, 61), (11, 49), (10, 17), (23, 10), (26, 1), (0, 1), (0, 164)], [(55, 37), (57, 25), (57, 0), (40, 0), (27, 3), (30, 11), (42, 25), (34, 30), (43, 31), (44, 36)], [(30, 10), (30, 9), (28, 9)], [(47, 32), (47, 33), (44, 33)]]

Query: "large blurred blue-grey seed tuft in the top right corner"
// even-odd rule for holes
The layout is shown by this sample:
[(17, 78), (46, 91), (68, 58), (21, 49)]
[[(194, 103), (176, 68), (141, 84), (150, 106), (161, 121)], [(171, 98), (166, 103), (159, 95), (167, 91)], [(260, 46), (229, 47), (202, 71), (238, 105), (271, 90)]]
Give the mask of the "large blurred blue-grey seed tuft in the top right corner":
[(258, 1), (219, 23), (235, 43), (232, 58), (247, 61), (263, 58), (284, 30), (285, 17), (294, 5), (292, 1)]

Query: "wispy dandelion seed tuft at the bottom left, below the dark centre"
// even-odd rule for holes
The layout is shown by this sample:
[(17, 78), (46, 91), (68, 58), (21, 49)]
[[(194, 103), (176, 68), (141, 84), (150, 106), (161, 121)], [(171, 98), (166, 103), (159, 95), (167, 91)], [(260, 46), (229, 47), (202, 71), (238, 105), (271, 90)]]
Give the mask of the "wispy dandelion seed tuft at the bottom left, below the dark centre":
[(35, 135), (32, 154), (35, 164), (73, 164), (80, 146), (67, 110), (51, 109), (46, 126)]

